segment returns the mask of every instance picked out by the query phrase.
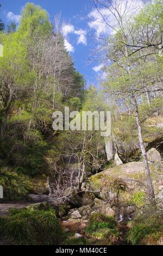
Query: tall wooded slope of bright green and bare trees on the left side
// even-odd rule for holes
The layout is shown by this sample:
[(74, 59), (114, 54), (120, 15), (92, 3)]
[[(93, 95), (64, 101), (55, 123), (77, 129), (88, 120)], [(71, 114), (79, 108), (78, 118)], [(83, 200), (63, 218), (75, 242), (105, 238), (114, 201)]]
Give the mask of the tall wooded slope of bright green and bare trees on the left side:
[(11, 23), (0, 33), (0, 159), (20, 174), (49, 172), (46, 154), (56, 147), (52, 113), (67, 104), (82, 107), (83, 76), (56, 33), (46, 10), (34, 3), (23, 8), (17, 31)]

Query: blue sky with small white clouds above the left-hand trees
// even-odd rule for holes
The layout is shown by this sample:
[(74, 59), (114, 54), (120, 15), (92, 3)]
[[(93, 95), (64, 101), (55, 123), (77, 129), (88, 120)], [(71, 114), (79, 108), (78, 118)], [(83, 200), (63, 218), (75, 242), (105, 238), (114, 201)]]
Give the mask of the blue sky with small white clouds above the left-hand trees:
[(89, 86), (91, 83), (97, 84), (97, 75), (102, 71), (99, 71), (98, 68), (95, 68), (96, 71), (92, 69), (93, 67), (98, 66), (100, 63), (93, 62), (88, 64), (88, 55), (91, 52), (90, 49), (93, 48), (94, 42), (92, 39), (90, 39), (89, 36), (85, 36), (89, 26), (84, 9), (86, 5), (87, 13), (89, 13), (93, 7), (92, 1), (0, 0), (0, 3), (2, 4), (0, 19), (3, 20), (5, 25), (10, 24), (11, 21), (17, 22), (18, 25), (21, 9), (27, 2), (33, 2), (35, 4), (41, 5), (43, 9), (47, 10), (49, 18), (52, 22), (54, 21), (54, 16), (58, 13), (61, 13), (61, 17), (64, 19), (65, 25), (67, 23), (67, 29), (70, 32), (68, 33), (63, 29), (63, 33), (65, 33), (66, 44), (68, 44), (68, 48), (70, 48), (70, 50), (73, 50), (70, 52), (70, 54), (72, 55), (76, 69), (80, 72), (80, 74), (84, 75), (87, 86)]

